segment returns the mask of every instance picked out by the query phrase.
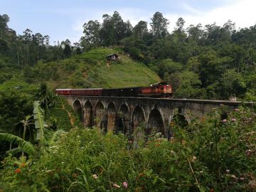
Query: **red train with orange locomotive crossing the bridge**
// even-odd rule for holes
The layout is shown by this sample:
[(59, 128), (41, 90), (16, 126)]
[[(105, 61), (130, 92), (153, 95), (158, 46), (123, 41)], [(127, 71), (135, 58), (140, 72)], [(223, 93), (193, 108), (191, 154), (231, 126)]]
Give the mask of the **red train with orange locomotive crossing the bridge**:
[(123, 88), (88, 88), (88, 89), (56, 89), (58, 95), (79, 96), (107, 96), (107, 97), (159, 97), (169, 98), (172, 96), (171, 85), (157, 83), (148, 87), (123, 87)]

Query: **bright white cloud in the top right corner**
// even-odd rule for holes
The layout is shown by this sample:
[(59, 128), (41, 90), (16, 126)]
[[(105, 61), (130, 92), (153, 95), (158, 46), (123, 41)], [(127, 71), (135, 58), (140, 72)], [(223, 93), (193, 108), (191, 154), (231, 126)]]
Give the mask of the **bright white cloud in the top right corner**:
[(254, 14), (255, 7), (255, 0), (230, 1), (229, 4), (218, 6), (210, 11), (197, 10), (188, 4), (183, 4), (183, 9), (186, 10), (186, 13), (166, 14), (166, 18), (171, 21), (169, 31), (174, 29), (175, 23), (179, 17), (182, 17), (186, 21), (185, 27), (191, 24), (197, 25), (198, 23), (201, 23), (202, 26), (212, 23), (223, 26), (223, 24), (230, 19), (235, 22), (236, 29), (239, 29), (256, 24), (256, 14)]

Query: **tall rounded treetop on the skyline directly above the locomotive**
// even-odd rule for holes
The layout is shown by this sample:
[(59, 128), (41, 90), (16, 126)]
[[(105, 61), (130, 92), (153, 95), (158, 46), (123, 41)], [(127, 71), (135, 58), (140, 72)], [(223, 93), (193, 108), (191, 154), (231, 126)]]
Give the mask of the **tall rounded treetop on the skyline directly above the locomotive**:
[(169, 25), (168, 19), (164, 18), (163, 14), (156, 12), (151, 18), (152, 23), (151, 33), (153, 33), (155, 39), (163, 38), (167, 35), (167, 26)]

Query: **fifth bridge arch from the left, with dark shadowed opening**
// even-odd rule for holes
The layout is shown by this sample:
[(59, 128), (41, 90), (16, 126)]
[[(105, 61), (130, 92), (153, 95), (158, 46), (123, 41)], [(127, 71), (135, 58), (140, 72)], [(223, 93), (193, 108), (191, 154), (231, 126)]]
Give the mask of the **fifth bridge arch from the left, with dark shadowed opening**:
[(129, 107), (127, 103), (123, 103), (119, 112), (117, 113), (118, 123), (117, 123), (117, 132), (122, 132), (123, 134), (129, 134)]

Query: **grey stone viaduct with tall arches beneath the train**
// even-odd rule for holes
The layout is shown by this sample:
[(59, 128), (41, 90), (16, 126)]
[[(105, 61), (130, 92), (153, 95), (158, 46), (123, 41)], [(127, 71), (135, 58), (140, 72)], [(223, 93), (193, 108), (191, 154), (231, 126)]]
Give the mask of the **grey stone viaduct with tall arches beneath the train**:
[(85, 127), (100, 127), (132, 135), (138, 127), (144, 132), (161, 132), (171, 137), (171, 122), (178, 118), (189, 124), (202, 118), (221, 104), (233, 110), (240, 102), (220, 100), (184, 100), (148, 97), (65, 96), (81, 117)]

